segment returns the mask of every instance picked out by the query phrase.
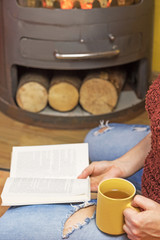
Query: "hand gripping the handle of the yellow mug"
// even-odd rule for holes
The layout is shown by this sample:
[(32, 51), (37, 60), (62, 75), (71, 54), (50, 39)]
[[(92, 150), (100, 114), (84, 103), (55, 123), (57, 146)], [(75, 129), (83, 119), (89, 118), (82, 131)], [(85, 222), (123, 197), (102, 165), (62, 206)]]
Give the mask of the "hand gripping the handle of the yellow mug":
[(160, 204), (151, 199), (137, 195), (132, 205), (144, 211), (136, 212), (131, 208), (124, 210), (124, 231), (131, 240), (160, 239)]

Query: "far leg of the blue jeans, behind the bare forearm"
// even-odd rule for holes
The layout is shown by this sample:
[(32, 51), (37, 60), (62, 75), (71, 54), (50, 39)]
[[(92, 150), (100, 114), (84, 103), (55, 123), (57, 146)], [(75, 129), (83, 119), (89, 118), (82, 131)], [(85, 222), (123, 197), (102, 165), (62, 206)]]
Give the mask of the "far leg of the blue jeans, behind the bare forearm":
[[(106, 130), (100, 133), (99, 130), (102, 127), (106, 127)], [(92, 129), (84, 141), (89, 144), (89, 157), (91, 161), (112, 161), (128, 152), (149, 132), (150, 127), (148, 125), (107, 123), (106, 125)], [(127, 178), (135, 185), (137, 190), (141, 190), (142, 173), (143, 169)]]

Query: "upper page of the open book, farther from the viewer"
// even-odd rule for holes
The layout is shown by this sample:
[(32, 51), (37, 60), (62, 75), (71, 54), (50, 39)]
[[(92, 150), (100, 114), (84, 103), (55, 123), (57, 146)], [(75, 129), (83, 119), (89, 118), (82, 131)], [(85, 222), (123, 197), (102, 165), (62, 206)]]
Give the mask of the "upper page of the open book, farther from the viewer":
[(87, 143), (13, 147), (10, 176), (77, 178), (88, 164)]

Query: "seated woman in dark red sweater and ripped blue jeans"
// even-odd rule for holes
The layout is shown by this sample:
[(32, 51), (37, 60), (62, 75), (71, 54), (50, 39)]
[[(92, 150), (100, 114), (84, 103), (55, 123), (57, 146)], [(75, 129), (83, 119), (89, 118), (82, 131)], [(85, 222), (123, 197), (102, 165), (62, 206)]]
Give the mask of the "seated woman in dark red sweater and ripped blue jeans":
[[(137, 195), (132, 202), (133, 206), (140, 207), (143, 211), (139, 213), (133, 209), (124, 211), (126, 234), (110, 236), (98, 230), (95, 215), (92, 214), (94, 209), (91, 209), (91, 214), (88, 212), (90, 208), (84, 209), (96, 204), (96, 200), (92, 200), (82, 204), (12, 207), (0, 218), (0, 240), (160, 239), (160, 77), (148, 91), (146, 108), (151, 120), (151, 133), (148, 126), (125, 124), (118, 126), (111, 124), (98, 131), (93, 130), (98, 138), (94, 138), (95, 142), (91, 141), (95, 144), (93, 148), (89, 143), (90, 157), (93, 161), (101, 159), (110, 161), (93, 162), (79, 176), (79, 178), (90, 176), (92, 191), (97, 190), (101, 180), (110, 177), (128, 178), (139, 188), (142, 175), (140, 169), (144, 166), (143, 196)], [(101, 137), (102, 144), (99, 141)], [(105, 145), (107, 137), (109, 141)], [(86, 212), (81, 214), (79, 209), (86, 210), (87, 214)]]

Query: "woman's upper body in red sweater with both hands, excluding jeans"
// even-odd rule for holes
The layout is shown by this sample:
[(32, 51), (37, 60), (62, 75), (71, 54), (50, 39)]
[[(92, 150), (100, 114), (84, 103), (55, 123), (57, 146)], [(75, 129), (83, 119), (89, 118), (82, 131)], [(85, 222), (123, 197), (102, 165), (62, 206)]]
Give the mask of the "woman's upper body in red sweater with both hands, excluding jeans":
[(127, 178), (144, 166), (142, 195), (132, 205), (140, 207), (137, 213), (124, 211), (124, 231), (132, 240), (160, 239), (160, 76), (151, 85), (146, 96), (146, 109), (151, 121), (151, 133), (129, 152), (112, 162), (93, 162), (79, 178), (91, 178), (91, 189), (110, 177)]

